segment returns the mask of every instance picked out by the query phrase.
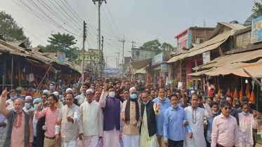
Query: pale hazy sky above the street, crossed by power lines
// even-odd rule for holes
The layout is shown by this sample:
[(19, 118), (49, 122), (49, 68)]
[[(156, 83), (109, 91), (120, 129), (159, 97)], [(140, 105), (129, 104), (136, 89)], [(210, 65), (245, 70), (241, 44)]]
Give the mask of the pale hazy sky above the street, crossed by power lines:
[[(188, 27), (216, 27), (217, 22), (249, 18), (254, 0), (108, 0), (100, 7), (101, 36), (108, 67), (131, 57), (132, 41), (138, 48), (147, 41), (176, 46), (174, 36)], [(51, 34), (71, 34), (82, 48), (83, 21), (87, 23), (85, 50), (98, 48), (98, 4), (92, 0), (0, 0), (0, 10), (10, 14), (30, 38), (32, 47), (48, 45)]]

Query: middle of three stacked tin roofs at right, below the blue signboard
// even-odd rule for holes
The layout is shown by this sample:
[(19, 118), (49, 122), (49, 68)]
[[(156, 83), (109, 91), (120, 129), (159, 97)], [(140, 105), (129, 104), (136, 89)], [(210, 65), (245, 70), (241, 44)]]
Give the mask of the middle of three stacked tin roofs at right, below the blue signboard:
[(262, 57), (262, 50), (254, 50), (250, 52), (240, 52), (237, 54), (218, 57), (207, 64), (200, 65), (200, 66), (193, 68), (193, 70), (207, 69), (210, 67), (232, 66), (232, 64), (239, 63), (239, 62), (247, 62), (252, 59), (256, 59), (258, 57)]

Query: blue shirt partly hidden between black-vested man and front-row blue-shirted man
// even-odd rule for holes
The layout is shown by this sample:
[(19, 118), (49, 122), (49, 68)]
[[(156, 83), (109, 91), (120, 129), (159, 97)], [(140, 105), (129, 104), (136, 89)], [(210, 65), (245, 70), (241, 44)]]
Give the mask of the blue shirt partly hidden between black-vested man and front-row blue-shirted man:
[(159, 110), (160, 110), (160, 114), (159, 116), (155, 116), (155, 121), (157, 123), (157, 134), (159, 134), (160, 136), (162, 136), (164, 134), (164, 130), (163, 130), (163, 125), (164, 125), (164, 111), (166, 111), (166, 109), (168, 109), (171, 104), (170, 104), (170, 100), (169, 99), (164, 99), (164, 102), (161, 102), (159, 97), (157, 97), (156, 99), (153, 99), (153, 102), (155, 102), (155, 104), (161, 104)]

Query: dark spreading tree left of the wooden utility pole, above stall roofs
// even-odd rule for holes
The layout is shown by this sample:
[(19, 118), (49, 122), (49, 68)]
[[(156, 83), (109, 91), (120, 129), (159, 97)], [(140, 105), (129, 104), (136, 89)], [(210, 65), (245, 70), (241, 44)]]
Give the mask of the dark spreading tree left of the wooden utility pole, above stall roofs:
[(38, 45), (37, 48), (41, 48), (43, 52), (65, 52), (65, 57), (77, 59), (77, 47), (72, 47), (75, 44), (74, 36), (70, 34), (51, 34), (52, 37), (48, 37), (50, 45)]

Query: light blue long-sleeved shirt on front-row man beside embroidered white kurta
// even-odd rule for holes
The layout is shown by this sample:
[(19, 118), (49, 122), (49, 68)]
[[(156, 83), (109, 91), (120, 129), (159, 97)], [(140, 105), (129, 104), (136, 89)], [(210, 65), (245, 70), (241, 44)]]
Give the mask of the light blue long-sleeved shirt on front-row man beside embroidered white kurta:
[[(161, 111), (160, 111), (161, 112)], [(185, 132), (184, 122), (188, 121), (185, 115), (185, 110), (178, 106), (177, 110), (172, 107), (166, 109), (164, 113), (164, 141), (171, 139), (172, 141), (184, 140)], [(188, 133), (192, 132), (189, 125), (185, 127)]]

